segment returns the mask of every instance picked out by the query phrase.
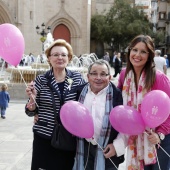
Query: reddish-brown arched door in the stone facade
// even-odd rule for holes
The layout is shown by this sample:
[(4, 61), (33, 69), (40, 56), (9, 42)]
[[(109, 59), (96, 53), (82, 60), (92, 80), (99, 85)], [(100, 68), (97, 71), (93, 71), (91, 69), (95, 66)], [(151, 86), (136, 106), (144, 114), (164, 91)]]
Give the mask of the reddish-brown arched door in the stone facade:
[(70, 30), (64, 24), (60, 24), (54, 29), (53, 37), (54, 40), (61, 38), (70, 43)]

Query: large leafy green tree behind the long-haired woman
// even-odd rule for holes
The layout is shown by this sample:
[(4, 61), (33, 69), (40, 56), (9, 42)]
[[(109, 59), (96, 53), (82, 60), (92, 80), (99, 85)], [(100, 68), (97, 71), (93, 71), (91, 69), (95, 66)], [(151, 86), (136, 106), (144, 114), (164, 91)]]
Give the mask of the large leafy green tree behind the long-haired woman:
[(120, 46), (125, 49), (136, 35), (151, 33), (151, 23), (143, 10), (132, 7), (127, 0), (115, 0), (105, 16), (95, 15), (91, 20), (93, 40), (110, 44), (114, 38), (115, 50)]

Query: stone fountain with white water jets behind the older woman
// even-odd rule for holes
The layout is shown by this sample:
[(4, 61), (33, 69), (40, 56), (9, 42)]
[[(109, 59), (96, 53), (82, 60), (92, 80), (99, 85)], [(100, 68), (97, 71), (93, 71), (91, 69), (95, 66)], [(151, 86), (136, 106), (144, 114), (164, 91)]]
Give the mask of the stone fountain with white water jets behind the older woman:
[[(83, 54), (81, 57), (74, 55), (67, 68), (80, 72), (84, 79), (87, 80), (86, 75), (88, 67), (97, 59), (98, 58), (94, 53)], [(34, 62), (30, 66), (17, 66), (17, 68), (11, 66), (7, 68), (6, 71), (10, 73), (10, 82), (23, 83), (25, 81), (26, 83), (29, 83), (34, 80), (37, 75), (45, 73), (47, 70), (49, 70), (49, 68), (50, 67), (47, 63)], [(20, 73), (22, 73), (24, 81), (22, 80)]]

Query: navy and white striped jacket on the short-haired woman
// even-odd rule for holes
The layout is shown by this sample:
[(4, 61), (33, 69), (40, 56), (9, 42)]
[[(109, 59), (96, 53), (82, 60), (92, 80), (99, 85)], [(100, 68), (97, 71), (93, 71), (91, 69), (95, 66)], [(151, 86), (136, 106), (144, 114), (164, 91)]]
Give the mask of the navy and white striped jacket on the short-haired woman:
[[(46, 78), (47, 74), (48, 76)], [(66, 69), (66, 79), (63, 90), (64, 98), (62, 98), (52, 70), (46, 74), (37, 76), (35, 80), (35, 89), (37, 91), (36, 102), (39, 106), (38, 122), (33, 126), (33, 132), (42, 136), (43, 138), (51, 139), (55, 118), (51, 92), (49, 86), (47, 86), (48, 79), (50, 79), (51, 86), (54, 89), (53, 94), (56, 103), (56, 113), (58, 116), (61, 108), (61, 99), (64, 103), (69, 100), (77, 100), (78, 87), (84, 84), (85, 81), (79, 72)], [(69, 88), (70, 84), (68, 79), (73, 80), (71, 88)], [(67, 93), (65, 95), (66, 91)], [(59, 117), (58, 121), (60, 121)]]

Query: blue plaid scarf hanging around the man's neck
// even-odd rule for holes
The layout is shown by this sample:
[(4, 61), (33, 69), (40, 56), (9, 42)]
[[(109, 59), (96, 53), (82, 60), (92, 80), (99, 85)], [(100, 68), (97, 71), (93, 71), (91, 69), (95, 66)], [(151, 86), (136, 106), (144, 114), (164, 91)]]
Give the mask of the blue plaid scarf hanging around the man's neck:
[[(84, 103), (84, 99), (88, 91), (88, 86), (89, 84), (87, 84), (83, 88), (83, 91), (80, 94), (79, 102), (81, 103)], [(108, 144), (110, 131), (111, 131), (111, 125), (109, 121), (109, 114), (112, 109), (112, 103), (113, 103), (112, 102), (113, 89), (111, 86), (112, 85), (109, 84), (109, 88), (107, 89), (105, 115), (103, 118), (103, 124), (102, 124), (102, 130), (100, 132), (100, 137), (97, 141), (97, 143), (103, 148), (105, 148), (106, 145)], [(76, 161), (75, 161), (75, 165), (73, 169), (84, 170), (84, 139), (82, 138), (78, 139)], [(104, 169), (105, 169), (105, 158), (103, 155), (103, 151), (98, 146), (96, 157), (95, 157), (94, 170), (104, 170)]]

